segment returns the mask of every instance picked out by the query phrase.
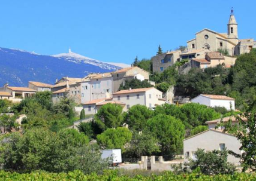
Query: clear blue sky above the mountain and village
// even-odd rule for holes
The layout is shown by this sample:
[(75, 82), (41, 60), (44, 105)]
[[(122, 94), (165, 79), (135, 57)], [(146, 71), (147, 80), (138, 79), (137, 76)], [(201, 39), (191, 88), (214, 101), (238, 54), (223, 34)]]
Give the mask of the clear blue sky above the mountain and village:
[(239, 38), (256, 39), (255, 0), (1, 1), (0, 47), (39, 54), (68, 52), (104, 62), (132, 63), (173, 50), (207, 27), (227, 32), (230, 9)]

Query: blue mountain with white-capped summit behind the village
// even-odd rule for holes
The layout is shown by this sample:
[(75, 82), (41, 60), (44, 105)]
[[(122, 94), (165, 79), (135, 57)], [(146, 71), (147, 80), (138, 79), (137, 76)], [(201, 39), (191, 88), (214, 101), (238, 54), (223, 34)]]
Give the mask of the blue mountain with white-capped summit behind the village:
[(62, 76), (83, 78), (89, 73), (112, 72), (121, 67), (69, 51), (44, 56), (24, 50), (0, 48), (0, 87), (5, 83), (28, 86), (28, 81), (54, 84)]

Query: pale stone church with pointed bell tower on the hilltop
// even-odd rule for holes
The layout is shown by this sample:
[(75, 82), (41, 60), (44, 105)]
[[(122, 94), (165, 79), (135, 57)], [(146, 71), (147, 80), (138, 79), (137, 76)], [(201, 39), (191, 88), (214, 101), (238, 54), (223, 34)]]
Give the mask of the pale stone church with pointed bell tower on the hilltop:
[(218, 33), (210, 29), (203, 29), (195, 33), (195, 38), (187, 41), (187, 51), (219, 49), (227, 50), (230, 56), (237, 56), (249, 53), (252, 48), (256, 48), (254, 39), (239, 39), (238, 27), (234, 10), (231, 10), (230, 19), (227, 24), (227, 33)]

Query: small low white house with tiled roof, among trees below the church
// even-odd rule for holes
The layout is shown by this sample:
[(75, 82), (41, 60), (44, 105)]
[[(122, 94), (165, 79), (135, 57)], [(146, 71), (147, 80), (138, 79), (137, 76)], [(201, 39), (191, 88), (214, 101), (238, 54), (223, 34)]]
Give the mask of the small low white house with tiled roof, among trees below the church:
[(206, 105), (209, 107), (224, 107), (227, 110), (234, 109), (234, 99), (227, 96), (221, 95), (209, 95), (209, 94), (200, 94), (199, 96), (191, 99), (192, 103), (200, 103), (200, 105)]

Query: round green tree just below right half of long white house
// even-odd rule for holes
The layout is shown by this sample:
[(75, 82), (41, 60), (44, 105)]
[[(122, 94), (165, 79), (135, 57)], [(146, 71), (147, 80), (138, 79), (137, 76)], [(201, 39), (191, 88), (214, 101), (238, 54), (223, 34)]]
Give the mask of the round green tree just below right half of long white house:
[(147, 120), (151, 118), (153, 111), (143, 105), (135, 105), (124, 113), (124, 121), (131, 130), (141, 131), (147, 126)]

